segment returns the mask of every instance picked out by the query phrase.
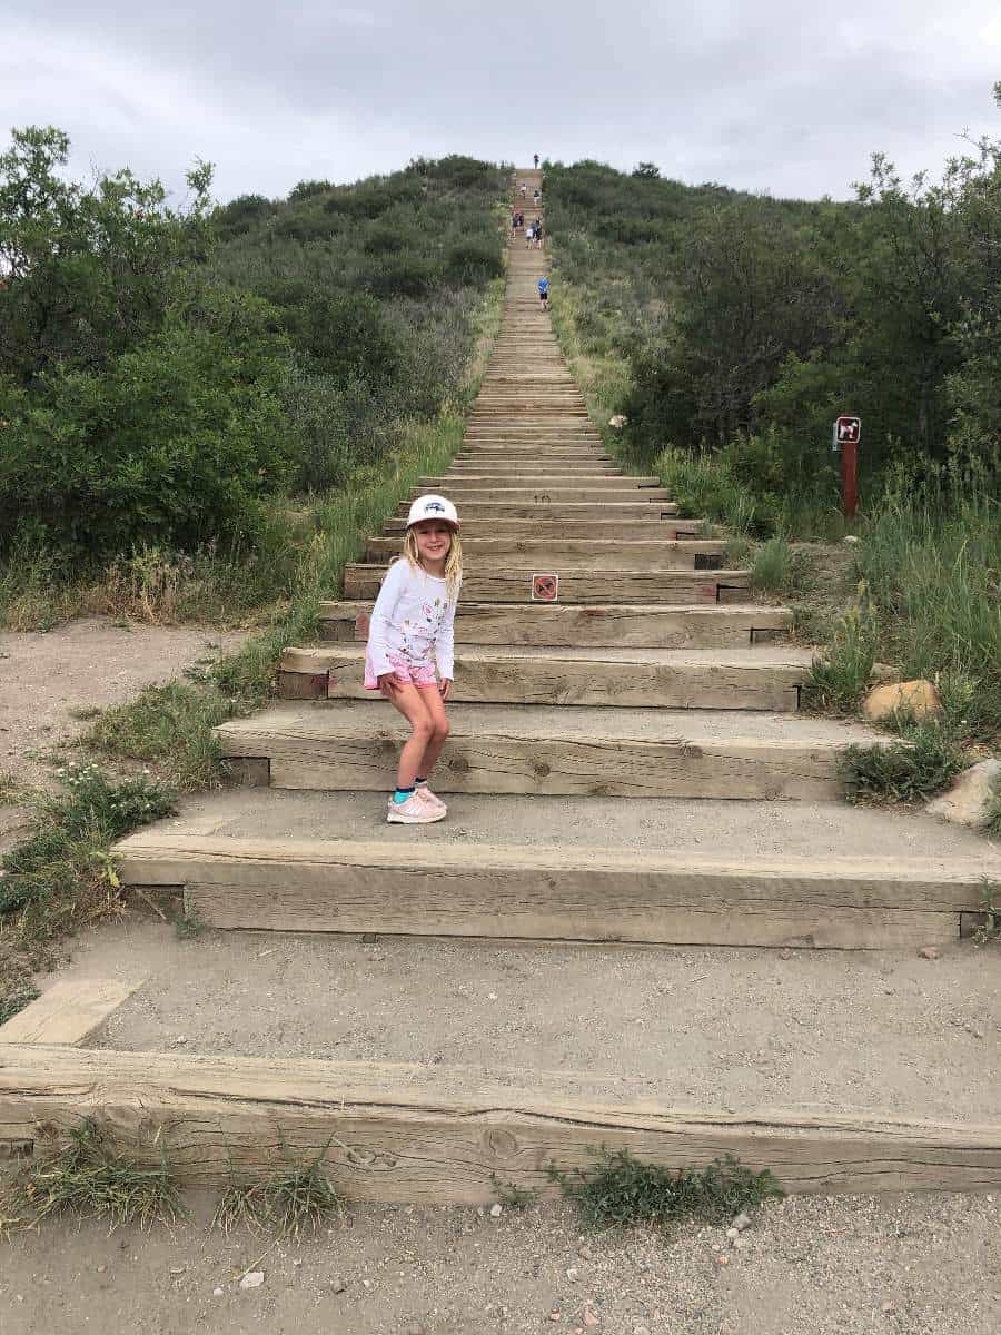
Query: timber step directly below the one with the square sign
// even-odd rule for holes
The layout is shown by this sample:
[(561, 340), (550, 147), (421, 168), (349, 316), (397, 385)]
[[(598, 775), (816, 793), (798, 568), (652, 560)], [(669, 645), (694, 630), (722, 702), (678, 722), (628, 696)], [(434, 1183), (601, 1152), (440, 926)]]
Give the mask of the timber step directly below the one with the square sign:
[[(344, 642), (368, 638), (368, 602), (322, 602), (320, 637)], [(466, 645), (570, 645), (594, 649), (731, 649), (761, 643), (791, 623), (787, 607), (741, 605), (655, 606), (561, 603), (478, 603), (460, 598), (455, 642)]]

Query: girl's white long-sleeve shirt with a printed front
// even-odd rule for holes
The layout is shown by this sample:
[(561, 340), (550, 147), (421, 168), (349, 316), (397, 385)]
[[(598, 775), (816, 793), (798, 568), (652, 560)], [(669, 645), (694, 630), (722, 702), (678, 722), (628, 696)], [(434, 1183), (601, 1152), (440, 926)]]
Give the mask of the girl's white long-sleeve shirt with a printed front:
[(390, 655), (415, 666), (438, 663), (438, 676), (455, 673), (455, 605), (459, 589), (448, 594), (444, 579), (394, 561), (372, 607), (366, 653), (366, 677), (392, 672)]

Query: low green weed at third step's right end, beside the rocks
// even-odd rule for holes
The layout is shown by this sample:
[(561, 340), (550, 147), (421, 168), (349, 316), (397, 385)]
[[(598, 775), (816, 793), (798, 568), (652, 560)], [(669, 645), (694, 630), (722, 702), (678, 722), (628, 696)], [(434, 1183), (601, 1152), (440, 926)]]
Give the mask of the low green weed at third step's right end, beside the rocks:
[(849, 746), (842, 760), (850, 802), (917, 802), (940, 793), (964, 766), (948, 725), (932, 720), (901, 724), (902, 741)]

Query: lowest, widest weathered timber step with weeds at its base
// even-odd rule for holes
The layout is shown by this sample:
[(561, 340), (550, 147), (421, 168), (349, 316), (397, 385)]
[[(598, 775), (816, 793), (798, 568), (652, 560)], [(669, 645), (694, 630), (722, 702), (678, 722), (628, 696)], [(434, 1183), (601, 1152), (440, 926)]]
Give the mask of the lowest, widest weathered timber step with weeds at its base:
[(589, 1145), (679, 1168), (737, 1155), (790, 1192), (982, 1191), (1001, 1183), (1001, 1128), (817, 1109), (674, 1108), (649, 1083), (240, 1056), (9, 1047), (0, 1140), (61, 1140), (93, 1116), (144, 1163), (222, 1185), (320, 1156), (352, 1200), (492, 1200), (491, 1177), (551, 1192), (546, 1168)]

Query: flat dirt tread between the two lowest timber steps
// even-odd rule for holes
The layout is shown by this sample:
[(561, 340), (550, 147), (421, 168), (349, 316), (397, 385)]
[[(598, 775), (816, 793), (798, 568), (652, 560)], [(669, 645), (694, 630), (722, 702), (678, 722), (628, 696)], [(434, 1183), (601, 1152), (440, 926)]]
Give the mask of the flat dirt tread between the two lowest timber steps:
[[(998, 955), (206, 932), (135, 913), (61, 979), (145, 976), (92, 1047), (591, 1072), (679, 1107), (1000, 1117)], [(44, 987), (44, 981), (41, 984)]]

